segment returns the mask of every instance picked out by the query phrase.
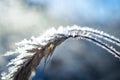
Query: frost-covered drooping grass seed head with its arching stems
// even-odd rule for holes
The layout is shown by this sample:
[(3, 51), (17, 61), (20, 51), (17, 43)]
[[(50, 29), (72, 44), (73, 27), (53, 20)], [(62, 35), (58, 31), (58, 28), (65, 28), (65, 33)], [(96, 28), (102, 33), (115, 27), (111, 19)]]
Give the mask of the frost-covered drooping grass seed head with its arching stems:
[(120, 47), (120, 40), (103, 31), (80, 26), (51, 28), (39, 37), (17, 43), (18, 47), (15, 51), (5, 54), (6, 56), (18, 54), (18, 56), (8, 63), (8, 72), (1, 74), (2, 80), (29, 80), (32, 71), (36, 69), (41, 59), (45, 58), (46, 64), (55, 48), (69, 38), (90, 41), (120, 58), (120, 52), (109, 44)]

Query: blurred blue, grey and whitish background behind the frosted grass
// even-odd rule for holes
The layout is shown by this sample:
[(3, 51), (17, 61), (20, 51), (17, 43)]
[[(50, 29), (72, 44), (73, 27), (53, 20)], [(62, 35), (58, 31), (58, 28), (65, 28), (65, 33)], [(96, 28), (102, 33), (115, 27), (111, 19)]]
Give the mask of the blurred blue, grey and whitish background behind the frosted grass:
[[(0, 0), (0, 72), (13, 58), (2, 55), (15, 42), (74, 24), (120, 38), (120, 0)], [(44, 72), (42, 63), (32, 80), (120, 80), (120, 60), (84, 40), (58, 46)]]

